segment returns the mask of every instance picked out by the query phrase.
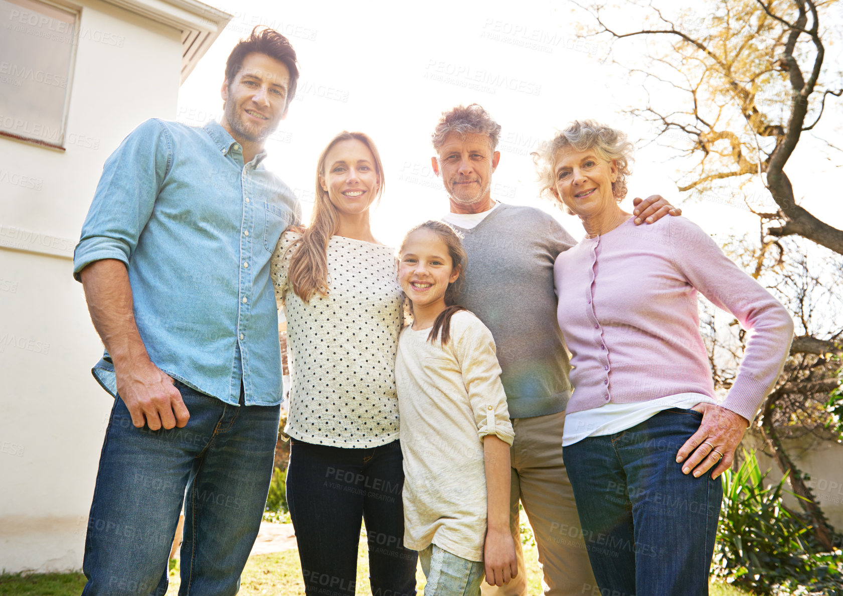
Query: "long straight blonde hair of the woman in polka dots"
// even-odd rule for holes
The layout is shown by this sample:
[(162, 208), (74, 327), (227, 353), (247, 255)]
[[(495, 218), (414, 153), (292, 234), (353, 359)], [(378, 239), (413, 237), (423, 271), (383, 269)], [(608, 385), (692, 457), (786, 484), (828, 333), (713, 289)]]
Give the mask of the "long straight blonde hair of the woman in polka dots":
[(328, 152), (338, 142), (357, 140), (362, 142), (374, 157), (374, 166), (378, 175), (378, 188), (375, 191), (375, 200), (379, 201), (384, 192), (384, 164), (380, 160), (378, 148), (367, 134), (363, 132), (343, 131), (332, 138), (328, 145), (319, 153), (319, 162), (316, 164), (316, 195), (314, 199), (314, 210), (310, 216), (310, 225), (304, 228), (302, 237), (290, 244), (287, 250), (298, 246), (298, 250), (290, 257), (290, 269), (287, 275), (293, 286), (293, 292), (305, 303), (314, 297), (314, 294), (327, 296), (330, 290), (328, 279), (328, 243), (330, 237), (336, 234), (340, 228), (340, 216), (336, 207), (330, 202), (328, 191), (322, 188), (321, 178), (325, 177), (325, 159)]

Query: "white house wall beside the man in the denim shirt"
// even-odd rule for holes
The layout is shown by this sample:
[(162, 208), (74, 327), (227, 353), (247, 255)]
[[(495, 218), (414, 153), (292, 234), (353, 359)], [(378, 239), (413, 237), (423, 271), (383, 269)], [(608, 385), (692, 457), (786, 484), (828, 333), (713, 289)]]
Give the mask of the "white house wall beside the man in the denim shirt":
[(67, 150), (0, 137), (0, 571), (82, 566), (113, 400), (90, 373), (102, 344), (72, 248), (105, 158), (140, 122), (175, 119), (181, 54), (180, 31), (84, 2)]

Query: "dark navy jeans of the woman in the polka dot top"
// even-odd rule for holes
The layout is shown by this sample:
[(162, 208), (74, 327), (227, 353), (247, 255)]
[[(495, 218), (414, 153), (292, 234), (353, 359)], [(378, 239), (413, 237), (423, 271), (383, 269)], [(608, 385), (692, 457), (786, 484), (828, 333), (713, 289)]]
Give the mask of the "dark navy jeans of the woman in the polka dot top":
[(287, 505), (308, 596), (353, 596), (363, 519), (372, 593), (416, 593), (418, 555), (404, 548), (403, 487), (398, 441), (355, 449), (293, 439)]

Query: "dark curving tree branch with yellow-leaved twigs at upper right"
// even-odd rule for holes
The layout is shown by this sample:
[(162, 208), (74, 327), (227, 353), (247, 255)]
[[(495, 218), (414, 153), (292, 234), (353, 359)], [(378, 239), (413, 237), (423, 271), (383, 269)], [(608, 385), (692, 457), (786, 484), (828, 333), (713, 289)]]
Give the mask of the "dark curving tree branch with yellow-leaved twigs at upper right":
[[(582, 4), (577, 3), (582, 7)], [(820, 3), (825, 7), (829, 3)], [(797, 205), (791, 180), (785, 174), (785, 167), (797, 147), (801, 133), (812, 130), (824, 115), (824, 103), (828, 95), (843, 96), (843, 89), (826, 90), (819, 99), (819, 113), (816, 119), (806, 126), (808, 106), (815, 85), (824, 66), (824, 46), (819, 35), (821, 24), (818, 3), (813, 0), (791, 0), (789, 3), (774, 3), (769, 0), (749, 0), (738, 4), (741, 9), (732, 12), (733, 4), (726, 6), (727, 13), (719, 21), (721, 30), (707, 31), (705, 36), (695, 35), (683, 30), (680, 19), (668, 19), (661, 10), (650, 3), (655, 26), (645, 25), (640, 30), (623, 31), (604, 19), (599, 6), (590, 9), (599, 30), (611, 35), (613, 40), (644, 35), (646, 37), (670, 37), (678, 40), (672, 44), (674, 56), (681, 62), (671, 63), (660, 56), (648, 56), (652, 64), (672, 68), (676, 78), (662, 76), (658, 72), (648, 72), (647, 68), (631, 69), (631, 72), (643, 72), (652, 80), (671, 85), (687, 94), (688, 110), (677, 117), (659, 115), (658, 106), (647, 106), (647, 112), (660, 121), (663, 132), (669, 129), (682, 130), (693, 135), (692, 148), (683, 148), (687, 154), (700, 152), (701, 161), (692, 170), (688, 179), (680, 183), (679, 191), (703, 189), (718, 181), (739, 178), (744, 175), (765, 174), (765, 186), (776, 202), (779, 212), (768, 230), (773, 237), (801, 235), (823, 245), (830, 250), (843, 254), (843, 230), (824, 223), (804, 207)], [(755, 8), (753, 8), (755, 7)], [(791, 21), (785, 13), (779, 13), (792, 7), (796, 19)], [(584, 7), (583, 7), (584, 8)], [(790, 8), (787, 8), (790, 9)], [(587, 9), (588, 10), (588, 9)], [(606, 13), (608, 14), (608, 13)], [(810, 21), (810, 23), (808, 23)], [(751, 26), (748, 26), (749, 24)], [(763, 36), (773, 40), (771, 44), (758, 46), (750, 43), (752, 39)], [(730, 42), (734, 40), (733, 44)], [(749, 48), (756, 54), (751, 54)], [(803, 48), (800, 50), (799, 48)], [(689, 54), (685, 50), (692, 51)], [(764, 53), (762, 53), (764, 52)], [(692, 58), (695, 54), (696, 58)], [(811, 61), (810, 72), (803, 74), (798, 56), (808, 57)], [(689, 67), (691, 60), (700, 61), (700, 66)], [(699, 83), (692, 83), (691, 72), (697, 69)], [(767, 84), (766, 78), (773, 72), (781, 82), (787, 82), (790, 99), (785, 100), (786, 121), (778, 115), (768, 116), (756, 99), (756, 93)], [(718, 83), (719, 82), (719, 83)], [(717, 85), (720, 85), (718, 88)], [(705, 89), (704, 109), (701, 105), (700, 90)], [(726, 92), (731, 92), (731, 104), (722, 101)], [(765, 102), (770, 99), (765, 97)], [(749, 135), (738, 138), (729, 110), (737, 109), (744, 116)], [(769, 110), (767, 110), (769, 111)], [(634, 111), (633, 111), (634, 113)], [(711, 115), (714, 114), (714, 117)], [(775, 120), (774, 120), (775, 118)], [(778, 120), (778, 121), (776, 121)], [(783, 120), (783, 119), (782, 119)], [(695, 122), (699, 130), (692, 131), (687, 121)], [(769, 138), (775, 144), (771, 147), (764, 139)], [(715, 143), (727, 140), (732, 148), (731, 159), (728, 153), (718, 150)], [(765, 211), (769, 211), (765, 210)]]

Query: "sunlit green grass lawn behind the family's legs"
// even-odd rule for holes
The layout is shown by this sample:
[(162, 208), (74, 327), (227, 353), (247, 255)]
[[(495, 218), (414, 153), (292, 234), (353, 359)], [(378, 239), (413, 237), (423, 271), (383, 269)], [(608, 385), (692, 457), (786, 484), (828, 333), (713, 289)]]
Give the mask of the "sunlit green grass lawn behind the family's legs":
[[(528, 567), (529, 594), (541, 594), (541, 577), (539, 575), (539, 561), (535, 547), (524, 545), (524, 558)], [(421, 567), (416, 572), (419, 594), (422, 593), (425, 580)], [(50, 575), (3, 575), (0, 576), (0, 596), (78, 596), (82, 593), (85, 578), (81, 573), (58, 573)], [(745, 596), (746, 593), (722, 583), (711, 583), (711, 596)], [(175, 596), (179, 592), (179, 575), (177, 570), (170, 573), (170, 584), (167, 596)], [(243, 571), (240, 594), (255, 596), (260, 594), (283, 596), (303, 596), (301, 566), (298, 563), (296, 550), (284, 550), (269, 555), (259, 555), (250, 558)], [(371, 588), (368, 582), (368, 560), (366, 544), (361, 541), (357, 559), (357, 593), (369, 594)]]

